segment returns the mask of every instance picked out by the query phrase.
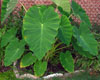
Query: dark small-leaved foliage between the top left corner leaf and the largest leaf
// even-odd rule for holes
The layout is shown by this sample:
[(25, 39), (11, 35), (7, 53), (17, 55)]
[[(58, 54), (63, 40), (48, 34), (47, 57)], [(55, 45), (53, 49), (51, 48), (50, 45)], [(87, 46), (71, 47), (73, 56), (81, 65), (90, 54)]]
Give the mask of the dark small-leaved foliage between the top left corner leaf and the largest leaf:
[(20, 9), (20, 11), (17, 12), (17, 14), (14, 14), (12, 12), (7, 18), (6, 28), (10, 29), (12, 27), (16, 27), (17, 29), (21, 30), (23, 25), (24, 15), (25, 15), (25, 10), (23, 9), (23, 7)]

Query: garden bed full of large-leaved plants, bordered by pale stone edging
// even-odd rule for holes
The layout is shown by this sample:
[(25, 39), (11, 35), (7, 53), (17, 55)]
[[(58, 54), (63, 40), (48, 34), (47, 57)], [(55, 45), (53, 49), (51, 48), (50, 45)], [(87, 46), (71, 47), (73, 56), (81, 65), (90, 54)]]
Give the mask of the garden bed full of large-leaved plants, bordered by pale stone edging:
[(13, 15), (16, 4), (17, 0), (3, 0), (2, 4), (0, 72), (13, 69), (18, 79), (65, 79), (84, 70), (100, 71), (100, 29), (92, 27), (85, 10), (74, 0), (71, 4), (56, 0), (53, 5), (28, 10), (21, 3), (21, 11)]

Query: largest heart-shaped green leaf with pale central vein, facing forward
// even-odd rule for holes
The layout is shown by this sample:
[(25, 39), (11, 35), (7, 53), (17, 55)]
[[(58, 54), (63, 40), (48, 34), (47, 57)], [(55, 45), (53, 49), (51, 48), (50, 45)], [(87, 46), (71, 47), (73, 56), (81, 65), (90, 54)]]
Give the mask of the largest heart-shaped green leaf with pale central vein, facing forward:
[(23, 22), (24, 39), (39, 60), (52, 48), (60, 23), (53, 7), (43, 8), (31, 7)]

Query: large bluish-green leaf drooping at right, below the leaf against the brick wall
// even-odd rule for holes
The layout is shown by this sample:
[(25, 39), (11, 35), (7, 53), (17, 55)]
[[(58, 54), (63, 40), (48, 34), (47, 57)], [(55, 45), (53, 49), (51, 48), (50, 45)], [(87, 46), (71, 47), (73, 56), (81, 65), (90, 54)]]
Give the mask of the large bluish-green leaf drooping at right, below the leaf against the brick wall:
[(79, 29), (74, 27), (74, 37), (77, 39), (78, 46), (82, 47), (84, 51), (94, 56), (98, 54), (97, 41), (87, 27), (87, 24), (81, 23)]

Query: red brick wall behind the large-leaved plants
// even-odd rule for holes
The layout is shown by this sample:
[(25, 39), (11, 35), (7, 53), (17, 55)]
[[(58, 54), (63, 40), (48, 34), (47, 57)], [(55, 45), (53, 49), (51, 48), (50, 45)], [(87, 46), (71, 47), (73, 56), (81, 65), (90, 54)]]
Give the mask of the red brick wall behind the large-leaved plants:
[[(82, 6), (82, 8), (85, 9), (92, 24), (100, 25), (100, 0), (75, 0), (75, 1), (79, 3)], [(45, 5), (52, 4), (51, 0), (19, 0), (19, 2), (24, 4), (24, 6), (27, 9), (32, 5), (36, 4), (45, 4)], [(17, 4), (17, 7), (18, 7), (17, 9), (21, 7), (20, 3)], [(78, 21), (78, 19), (75, 19), (75, 21)]]

